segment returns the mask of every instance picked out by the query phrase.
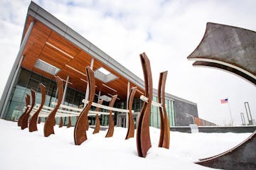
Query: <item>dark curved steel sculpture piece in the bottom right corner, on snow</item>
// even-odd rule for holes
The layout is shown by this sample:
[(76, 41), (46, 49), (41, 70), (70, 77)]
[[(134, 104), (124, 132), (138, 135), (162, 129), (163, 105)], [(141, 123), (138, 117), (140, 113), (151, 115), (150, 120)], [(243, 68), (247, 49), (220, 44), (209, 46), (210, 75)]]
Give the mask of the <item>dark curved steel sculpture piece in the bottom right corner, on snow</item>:
[(256, 169), (256, 131), (236, 147), (213, 157), (200, 159), (203, 166), (214, 169)]

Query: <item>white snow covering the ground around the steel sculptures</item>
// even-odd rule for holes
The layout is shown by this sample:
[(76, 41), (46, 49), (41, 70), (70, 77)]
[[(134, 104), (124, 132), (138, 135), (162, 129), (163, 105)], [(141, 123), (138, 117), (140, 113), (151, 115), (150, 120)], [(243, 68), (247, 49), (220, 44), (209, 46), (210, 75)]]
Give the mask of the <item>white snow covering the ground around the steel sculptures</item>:
[(146, 158), (137, 156), (135, 138), (124, 140), (126, 128), (114, 128), (92, 135), (74, 145), (74, 128), (58, 128), (55, 135), (43, 137), (43, 123), (37, 132), (21, 130), (16, 122), (0, 120), (0, 169), (210, 169), (193, 162), (224, 152), (245, 140), (251, 133), (171, 132), (170, 149), (159, 148), (159, 129), (150, 128), (151, 144)]

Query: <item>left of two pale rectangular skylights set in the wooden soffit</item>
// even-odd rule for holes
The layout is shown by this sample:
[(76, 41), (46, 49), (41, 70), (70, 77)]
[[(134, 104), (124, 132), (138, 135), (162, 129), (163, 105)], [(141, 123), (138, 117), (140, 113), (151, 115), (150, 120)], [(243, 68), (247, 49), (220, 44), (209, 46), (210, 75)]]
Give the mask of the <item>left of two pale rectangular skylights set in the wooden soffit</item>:
[(36, 60), (36, 63), (34, 67), (43, 70), (44, 72), (48, 72), (49, 74), (56, 75), (58, 72), (60, 72), (60, 69), (53, 66), (52, 64), (49, 64), (48, 62), (45, 62), (41, 59)]

